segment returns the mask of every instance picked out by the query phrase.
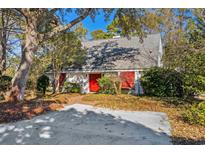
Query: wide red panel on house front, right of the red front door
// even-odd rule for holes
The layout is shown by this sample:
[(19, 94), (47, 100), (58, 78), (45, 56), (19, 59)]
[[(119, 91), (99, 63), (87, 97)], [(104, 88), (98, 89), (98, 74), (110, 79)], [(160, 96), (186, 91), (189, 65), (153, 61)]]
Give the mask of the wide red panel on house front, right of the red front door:
[(135, 72), (120, 72), (120, 78), (122, 80), (122, 88), (130, 89), (135, 83)]

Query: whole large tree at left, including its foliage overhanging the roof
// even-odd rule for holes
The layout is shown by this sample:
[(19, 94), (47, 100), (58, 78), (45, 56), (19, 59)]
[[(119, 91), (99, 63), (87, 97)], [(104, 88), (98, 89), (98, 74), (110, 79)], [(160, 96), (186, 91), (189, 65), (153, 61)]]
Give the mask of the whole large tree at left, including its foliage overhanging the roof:
[[(70, 13), (72, 9), (11, 9), (19, 17), (20, 27), (24, 32), (21, 41), (21, 62), (12, 79), (10, 99), (20, 101), (24, 98), (26, 82), (29, 70), (33, 64), (34, 54), (39, 46), (50, 38), (65, 32), (84, 20), (87, 16), (92, 19), (100, 9), (75, 9), (78, 17), (67, 24), (62, 24), (63, 14)], [(115, 11), (115, 17), (119, 19), (123, 35), (136, 33), (143, 37), (149, 30), (158, 27), (158, 20), (153, 20), (149, 25), (151, 9), (101, 9), (105, 13), (105, 19)], [(57, 13), (56, 13), (57, 12)], [(126, 17), (126, 18), (125, 18)]]

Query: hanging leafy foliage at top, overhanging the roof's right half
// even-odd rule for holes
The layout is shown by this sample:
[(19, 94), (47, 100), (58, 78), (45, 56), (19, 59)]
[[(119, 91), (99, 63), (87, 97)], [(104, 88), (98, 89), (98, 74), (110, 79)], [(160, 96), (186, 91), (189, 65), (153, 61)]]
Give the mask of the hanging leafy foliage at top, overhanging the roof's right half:
[(134, 35), (141, 39), (149, 32), (158, 32), (161, 17), (158, 9), (119, 9), (112, 26), (118, 28), (123, 36)]

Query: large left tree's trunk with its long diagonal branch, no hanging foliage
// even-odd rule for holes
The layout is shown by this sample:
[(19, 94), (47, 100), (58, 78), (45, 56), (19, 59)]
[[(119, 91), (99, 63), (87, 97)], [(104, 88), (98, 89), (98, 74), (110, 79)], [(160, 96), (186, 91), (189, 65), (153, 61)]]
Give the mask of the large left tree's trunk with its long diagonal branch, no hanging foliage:
[[(24, 25), (24, 37), (21, 44), (21, 62), (12, 79), (10, 91), (11, 101), (20, 101), (24, 98), (24, 91), (28, 79), (29, 70), (32, 66), (33, 55), (38, 50), (39, 45), (60, 32), (70, 29), (75, 24), (86, 18), (92, 9), (80, 9), (79, 17), (66, 25), (59, 25), (55, 12), (58, 9), (15, 9), (18, 15), (22, 16)], [(57, 25), (57, 26), (55, 26)]]

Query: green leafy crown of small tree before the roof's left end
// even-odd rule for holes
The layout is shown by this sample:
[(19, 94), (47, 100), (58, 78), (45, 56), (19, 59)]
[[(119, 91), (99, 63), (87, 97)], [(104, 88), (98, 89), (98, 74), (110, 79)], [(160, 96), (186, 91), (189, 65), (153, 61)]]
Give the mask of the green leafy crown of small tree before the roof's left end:
[[(55, 80), (57, 80), (58, 78), (57, 74), (60, 74), (61, 70), (64, 67), (69, 67), (71, 65), (78, 67), (84, 62), (86, 50), (82, 47), (79, 37), (83, 37), (85, 31), (83, 27), (77, 27), (75, 30), (75, 32), (61, 33), (55, 38), (50, 39), (48, 42), (45, 43), (46, 47), (48, 45), (51, 47), (49, 49), (49, 52), (44, 56), (41, 56), (42, 59), (36, 59), (36, 62), (42, 61), (41, 63), (37, 63), (37, 65), (42, 64), (42, 66), (40, 67), (42, 69), (39, 70), (51, 71), (53, 79)], [(36, 67), (34, 66), (33, 68)], [(47, 70), (45, 68), (47, 68)], [(42, 72), (34, 69), (31, 74), (31, 76), (33, 77), (34, 72), (36, 72), (36, 75), (38, 75), (39, 73), (42, 74)], [(33, 79), (31, 81), (35, 80)], [(56, 89), (56, 87), (53, 87), (53, 89)]]

